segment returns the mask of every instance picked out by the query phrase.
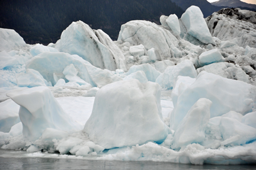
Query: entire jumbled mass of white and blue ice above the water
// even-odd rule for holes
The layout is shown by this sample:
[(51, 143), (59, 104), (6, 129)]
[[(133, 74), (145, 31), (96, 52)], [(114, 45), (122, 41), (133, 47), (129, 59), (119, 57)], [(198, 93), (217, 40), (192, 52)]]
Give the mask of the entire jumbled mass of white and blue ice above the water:
[(129, 21), (117, 41), (82, 21), (48, 46), (1, 28), (0, 156), (256, 163), (255, 12), (225, 10)]

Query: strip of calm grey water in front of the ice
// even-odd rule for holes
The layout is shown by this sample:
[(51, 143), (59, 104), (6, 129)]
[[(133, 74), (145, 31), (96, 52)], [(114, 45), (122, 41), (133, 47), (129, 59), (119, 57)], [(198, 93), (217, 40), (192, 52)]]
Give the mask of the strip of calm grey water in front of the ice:
[(53, 158), (0, 158), (0, 169), (255, 169), (256, 165), (187, 165), (168, 162), (91, 161)]

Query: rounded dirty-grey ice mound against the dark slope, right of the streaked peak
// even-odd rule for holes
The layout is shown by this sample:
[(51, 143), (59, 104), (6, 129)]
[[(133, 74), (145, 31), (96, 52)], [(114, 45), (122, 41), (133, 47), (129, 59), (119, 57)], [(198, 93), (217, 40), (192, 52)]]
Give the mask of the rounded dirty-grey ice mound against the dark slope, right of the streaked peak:
[(142, 44), (146, 50), (158, 50), (161, 58), (171, 57), (171, 48), (178, 47), (178, 39), (168, 30), (149, 21), (129, 21), (121, 25), (118, 41), (129, 42), (133, 46)]

